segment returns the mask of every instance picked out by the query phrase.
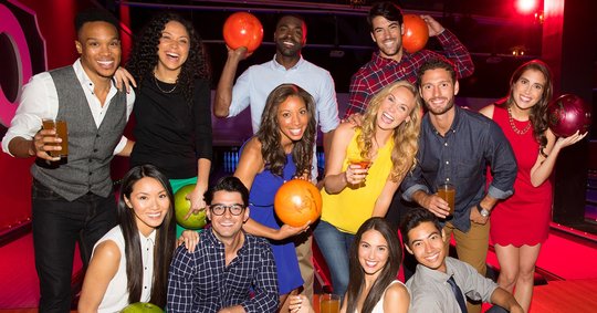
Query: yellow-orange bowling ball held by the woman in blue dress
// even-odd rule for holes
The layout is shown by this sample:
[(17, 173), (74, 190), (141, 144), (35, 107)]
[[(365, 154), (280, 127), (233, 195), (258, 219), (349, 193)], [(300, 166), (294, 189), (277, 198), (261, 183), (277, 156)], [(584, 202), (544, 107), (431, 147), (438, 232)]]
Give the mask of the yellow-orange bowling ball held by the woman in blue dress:
[(274, 210), (277, 218), (292, 227), (314, 222), (322, 215), (322, 195), (311, 181), (292, 179), (275, 192)]

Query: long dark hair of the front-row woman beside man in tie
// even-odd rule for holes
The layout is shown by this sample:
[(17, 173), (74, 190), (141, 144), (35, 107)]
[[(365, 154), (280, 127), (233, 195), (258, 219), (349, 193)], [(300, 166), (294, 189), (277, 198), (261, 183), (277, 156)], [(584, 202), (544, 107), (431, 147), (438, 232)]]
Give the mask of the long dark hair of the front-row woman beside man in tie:
[(384, 218), (374, 217), (366, 220), (360, 228), (358, 228), (353, 246), (350, 247), (350, 277), (348, 279), (348, 290), (346, 292), (346, 312), (356, 312), (358, 298), (365, 288), (365, 271), (358, 261), (358, 248), (360, 246), (363, 233), (368, 230), (378, 231), (388, 242), (388, 261), (379, 272), (379, 277), (365, 298), (363, 310), (359, 312), (370, 313), (373, 311), (377, 302), (379, 302), (379, 299), (381, 299), (386, 288), (396, 279), (396, 275), (398, 275), (400, 262), (402, 261), (402, 249), (396, 230), (392, 229)]

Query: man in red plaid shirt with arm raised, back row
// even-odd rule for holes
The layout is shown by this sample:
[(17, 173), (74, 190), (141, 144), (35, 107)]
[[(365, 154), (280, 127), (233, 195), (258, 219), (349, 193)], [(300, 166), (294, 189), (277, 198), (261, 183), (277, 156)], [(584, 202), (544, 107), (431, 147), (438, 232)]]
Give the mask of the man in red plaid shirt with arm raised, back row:
[[(446, 56), (455, 64), (457, 79), (470, 76), (474, 65), (467, 48), (430, 15), (421, 18), (429, 27), (429, 36), (438, 38)], [(346, 117), (365, 112), (370, 98), (392, 82), (407, 80), (415, 84), (419, 66), (429, 59), (440, 56), (429, 50), (408, 53), (402, 49), (402, 13), (400, 8), (390, 1), (373, 4), (367, 22), (371, 28), (371, 39), (379, 51), (353, 75)]]

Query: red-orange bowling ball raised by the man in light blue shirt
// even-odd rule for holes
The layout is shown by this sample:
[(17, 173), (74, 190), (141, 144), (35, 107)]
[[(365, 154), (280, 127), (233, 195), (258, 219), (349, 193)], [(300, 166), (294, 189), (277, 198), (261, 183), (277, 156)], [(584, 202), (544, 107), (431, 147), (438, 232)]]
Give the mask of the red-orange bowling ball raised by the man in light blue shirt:
[(247, 52), (253, 52), (263, 40), (263, 25), (251, 13), (235, 12), (224, 22), (223, 38), (226, 44), (233, 50), (247, 46)]

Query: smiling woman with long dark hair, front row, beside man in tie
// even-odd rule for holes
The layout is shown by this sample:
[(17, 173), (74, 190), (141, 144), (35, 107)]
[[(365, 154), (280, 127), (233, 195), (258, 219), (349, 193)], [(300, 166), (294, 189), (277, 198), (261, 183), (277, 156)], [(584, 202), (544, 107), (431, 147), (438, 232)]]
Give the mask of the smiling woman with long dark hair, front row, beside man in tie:
[[(350, 279), (341, 313), (406, 313), (410, 295), (396, 279), (402, 248), (396, 230), (380, 217), (366, 220), (350, 247)], [(290, 299), (290, 312), (313, 313), (304, 295)]]

